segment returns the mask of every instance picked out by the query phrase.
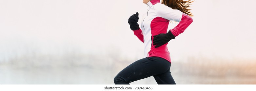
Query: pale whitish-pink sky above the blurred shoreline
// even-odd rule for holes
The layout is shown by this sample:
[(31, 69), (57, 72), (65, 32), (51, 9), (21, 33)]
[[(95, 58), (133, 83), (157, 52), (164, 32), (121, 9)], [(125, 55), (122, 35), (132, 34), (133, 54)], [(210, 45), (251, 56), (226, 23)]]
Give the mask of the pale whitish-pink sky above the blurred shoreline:
[[(196, 0), (193, 23), (168, 44), (171, 59), (256, 59), (255, 3)], [(0, 0), (0, 61), (73, 51), (144, 58), (128, 18), (139, 12), (141, 23), (147, 8), (142, 0)]]

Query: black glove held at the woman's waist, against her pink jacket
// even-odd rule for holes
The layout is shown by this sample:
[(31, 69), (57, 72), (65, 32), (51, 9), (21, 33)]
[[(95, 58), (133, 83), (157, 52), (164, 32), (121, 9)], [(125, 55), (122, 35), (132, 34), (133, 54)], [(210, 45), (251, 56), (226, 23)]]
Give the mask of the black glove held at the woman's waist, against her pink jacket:
[(169, 31), (168, 33), (161, 33), (153, 37), (153, 45), (156, 45), (155, 48), (164, 45), (168, 43), (171, 39), (175, 38), (171, 31)]

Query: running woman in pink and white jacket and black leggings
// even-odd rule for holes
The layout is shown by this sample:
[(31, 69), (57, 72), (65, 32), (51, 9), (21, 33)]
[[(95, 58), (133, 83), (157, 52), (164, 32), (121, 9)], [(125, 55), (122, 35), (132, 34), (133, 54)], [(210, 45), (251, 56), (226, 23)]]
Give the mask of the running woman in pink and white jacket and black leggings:
[[(133, 14), (128, 23), (141, 42), (145, 44), (143, 59), (137, 60), (119, 72), (114, 78), (115, 84), (129, 84), (133, 81), (153, 76), (157, 84), (176, 84), (170, 72), (171, 59), (167, 44), (193, 22), (189, 3), (183, 0), (143, 0), (148, 12), (142, 19), (141, 28), (137, 23), (139, 13)], [(179, 22), (168, 30), (170, 20)]]

